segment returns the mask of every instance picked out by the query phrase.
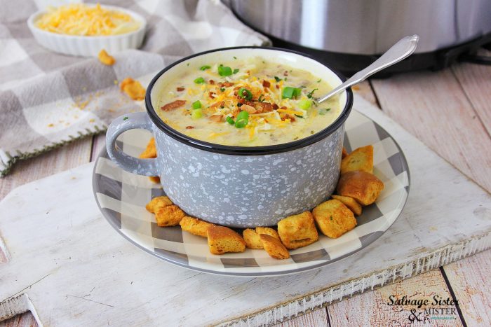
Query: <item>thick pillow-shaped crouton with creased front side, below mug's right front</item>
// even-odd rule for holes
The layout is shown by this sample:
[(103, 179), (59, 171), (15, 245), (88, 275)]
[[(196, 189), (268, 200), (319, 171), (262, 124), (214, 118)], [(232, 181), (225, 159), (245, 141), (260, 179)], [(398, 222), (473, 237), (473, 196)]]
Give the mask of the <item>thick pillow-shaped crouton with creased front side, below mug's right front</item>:
[(297, 249), (317, 241), (318, 233), (310, 211), (288, 216), (278, 222), (278, 235), (287, 249)]

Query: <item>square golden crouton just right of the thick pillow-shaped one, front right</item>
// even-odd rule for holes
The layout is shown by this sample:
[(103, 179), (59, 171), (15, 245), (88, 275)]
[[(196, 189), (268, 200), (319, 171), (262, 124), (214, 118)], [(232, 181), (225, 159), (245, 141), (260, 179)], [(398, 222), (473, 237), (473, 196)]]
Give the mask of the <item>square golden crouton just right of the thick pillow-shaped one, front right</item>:
[(312, 212), (321, 232), (334, 239), (356, 226), (353, 212), (339, 200), (323, 202)]

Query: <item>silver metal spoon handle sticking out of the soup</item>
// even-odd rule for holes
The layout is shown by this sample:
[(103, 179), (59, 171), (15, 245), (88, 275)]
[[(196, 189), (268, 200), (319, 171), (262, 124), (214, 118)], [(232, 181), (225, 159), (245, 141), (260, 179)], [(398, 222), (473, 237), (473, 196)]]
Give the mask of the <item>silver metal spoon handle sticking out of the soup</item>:
[(386, 69), (397, 62), (409, 57), (412, 53), (415, 52), (417, 41), (419, 40), (419, 36), (416, 34), (413, 36), (406, 36), (405, 38), (399, 40), (394, 46), (392, 46), (389, 50), (386, 51), (379, 59), (375, 60), (370, 66), (367, 68), (358, 71), (358, 73), (354, 74), (349, 78), (346, 82), (339, 85), (337, 88), (329, 92), (324, 97), (321, 97), (317, 100), (317, 103), (321, 103), (330, 97), (341, 93), (346, 88), (349, 88), (351, 85), (358, 84), (360, 82), (365, 81), (368, 76), (372, 76), (373, 74), (381, 71), (382, 69)]

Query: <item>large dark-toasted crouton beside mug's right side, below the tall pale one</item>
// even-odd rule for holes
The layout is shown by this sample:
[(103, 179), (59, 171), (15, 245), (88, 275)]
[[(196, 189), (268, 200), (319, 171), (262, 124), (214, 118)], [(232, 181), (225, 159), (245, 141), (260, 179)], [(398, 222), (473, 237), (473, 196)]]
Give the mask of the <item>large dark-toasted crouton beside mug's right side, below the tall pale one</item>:
[(384, 183), (368, 172), (347, 172), (337, 182), (337, 194), (353, 197), (362, 205), (375, 202), (383, 189)]

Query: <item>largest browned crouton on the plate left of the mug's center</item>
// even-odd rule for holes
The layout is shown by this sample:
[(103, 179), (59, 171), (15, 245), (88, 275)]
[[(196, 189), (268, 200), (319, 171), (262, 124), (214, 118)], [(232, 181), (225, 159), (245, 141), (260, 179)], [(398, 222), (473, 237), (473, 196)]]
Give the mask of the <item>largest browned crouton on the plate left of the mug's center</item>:
[(208, 228), (207, 234), (210, 253), (222, 254), (245, 251), (244, 239), (230, 228), (213, 225)]

